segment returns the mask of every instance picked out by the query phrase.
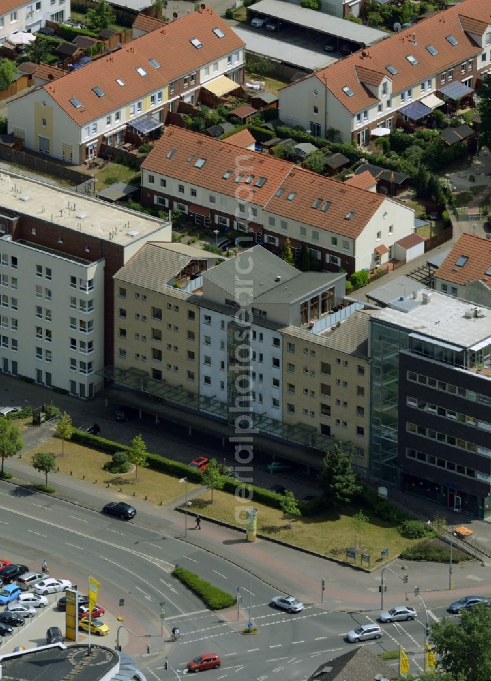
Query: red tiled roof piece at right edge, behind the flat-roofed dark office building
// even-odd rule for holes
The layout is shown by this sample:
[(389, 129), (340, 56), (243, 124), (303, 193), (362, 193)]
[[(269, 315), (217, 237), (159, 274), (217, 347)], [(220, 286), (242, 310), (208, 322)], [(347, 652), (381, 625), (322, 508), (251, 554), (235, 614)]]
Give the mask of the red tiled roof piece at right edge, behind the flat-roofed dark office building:
[[(460, 257), (466, 257), (462, 265), (457, 265)], [(472, 234), (462, 234), (458, 242), (434, 273), (438, 279), (465, 285), (468, 281), (483, 281), (491, 286), (491, 241)]]

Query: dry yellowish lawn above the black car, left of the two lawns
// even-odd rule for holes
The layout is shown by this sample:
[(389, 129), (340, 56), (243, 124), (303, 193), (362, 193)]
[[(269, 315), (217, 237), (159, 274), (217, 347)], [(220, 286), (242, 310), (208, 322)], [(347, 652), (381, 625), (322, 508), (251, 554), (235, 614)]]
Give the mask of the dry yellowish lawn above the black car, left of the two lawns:
[[(106, 488), (109, 484), (113, 491), (118, 491), (123, 488), (122, 496), (125, 498), (132, 497), (135, 492), (136, 498), (144, 499), (147, 496), (148, 501), (155, 504), (163, 503), (163, 505), (174, 501), (179, 496), (185, 493), (184, 485), (179, 482), (177, 477), (165, 475), (165, 473), (157, 473), (151, 469), (144, 469), (141, 466), (138, 468), (138, 481), (135, 479), (135, 473), (127, 473), (126, 475), (111, 475), (102, 470), (102, 466), (111, 460), (109, 454), (97, 452), (95, 449), (90, 449), (84, 445), (79, 445), (76, 442), (65, 442), (65, 456), (61, 456), (61, 440), (52, 438), (50, 441), (31, 449), (28, 454), (23, 454), (22, 458), (30, 461), (33, 454), (36, 452), (50, 452), (57, 458), (57, 466), (59, 466), (59, 473), (72, 475), (78, 479), (85, 479), (94, 484), (97, 479), (97, 486)], [(5, 462), (5, 470), (8, 471), (8, 462)], [(48, 476), (48, 484), (56, 487), (56, 481), (51, 475)], [(198, 485), (188, 482), (188, 493), (197, 488)], [(101, 492), (101, 499), (104, 499), (104, 492)]]

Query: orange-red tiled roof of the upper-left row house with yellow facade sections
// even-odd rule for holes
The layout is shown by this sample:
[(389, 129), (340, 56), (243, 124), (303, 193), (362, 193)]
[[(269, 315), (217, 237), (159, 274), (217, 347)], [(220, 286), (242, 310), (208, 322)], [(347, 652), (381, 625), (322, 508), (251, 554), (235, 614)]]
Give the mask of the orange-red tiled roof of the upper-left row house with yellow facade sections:
[[(221, 29), (224, 37), (215, 35), (215, 28)], [(195, 38), (202, 48), (191, 44)], [(44, 89), (70, 118), (84, 125), (243, 46), (244, 42), (229, 25), (211, 7), (206, 7), (142, 35), (108, 57), (77, 69), (69, 78), (45, 85)], [(159, 68), (149, 63), (152, 58)], [(140, 76), (138, 67), (147, 75)], [(118, 85), (116, 78), (121, 78), (125, 85)], [(93, 92), (95, 86), (104, 91), (104, 97), (97, 97)], [(73, 97), (82, 104), (80, 108), (70, 104)]]

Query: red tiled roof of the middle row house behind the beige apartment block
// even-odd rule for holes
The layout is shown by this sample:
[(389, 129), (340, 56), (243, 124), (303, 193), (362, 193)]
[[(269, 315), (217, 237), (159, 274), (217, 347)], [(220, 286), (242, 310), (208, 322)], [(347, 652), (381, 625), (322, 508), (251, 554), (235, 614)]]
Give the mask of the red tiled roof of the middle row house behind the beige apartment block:
[[(168, 158), (171, 150), (175, 151)], [(240, 165), (236, 165), (237, 154), (238, 147), (232, 144), (171, 125), (155, 142), (142, 169), (178, 180), (185, 178), (191, 185), (234, 197), (240, 186), (237, 174), (242, 172), (240, 183), (247, 187), (251, 204), (351, 238), (361, 234), (385, 200), (392, 201), (267, 154), (242, 151)], [(194, 165), (198, 158), (205, 159), (202, 168)], [(241, 171), (246, 167), (247, 171)], [(225, 179), (227, 171), (231, 174)], [(249, 176), (252, 178), (247, 183)], [(256, 184), (260, 177), (266, 178), (262, 186)]]

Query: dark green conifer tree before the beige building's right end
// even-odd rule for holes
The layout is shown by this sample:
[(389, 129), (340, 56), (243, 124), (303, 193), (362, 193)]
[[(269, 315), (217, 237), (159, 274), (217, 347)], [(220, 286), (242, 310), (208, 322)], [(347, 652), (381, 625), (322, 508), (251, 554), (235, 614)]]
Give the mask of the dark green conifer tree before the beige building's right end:
[(332, 506), (349, 503), (362, 489), (351, 467), (353, 449), (343, 449), (336, 442), (323, 458), (322, 471), (317, 480), (324, 500)]

